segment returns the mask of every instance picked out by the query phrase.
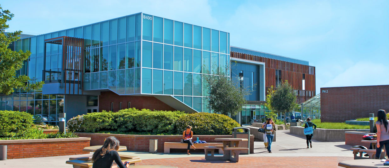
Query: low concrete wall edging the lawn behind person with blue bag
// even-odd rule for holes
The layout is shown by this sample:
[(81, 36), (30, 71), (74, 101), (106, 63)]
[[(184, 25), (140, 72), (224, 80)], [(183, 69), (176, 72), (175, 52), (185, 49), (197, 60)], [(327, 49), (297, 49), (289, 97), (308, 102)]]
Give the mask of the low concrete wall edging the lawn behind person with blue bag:
[[(344, 142), (347, 131), (368, 131), (367, 129), (316, 129), (312, 139), (324, 142)], [(290, 133), (298, 136), (304, 135), (304, 127), (291, 127)]]

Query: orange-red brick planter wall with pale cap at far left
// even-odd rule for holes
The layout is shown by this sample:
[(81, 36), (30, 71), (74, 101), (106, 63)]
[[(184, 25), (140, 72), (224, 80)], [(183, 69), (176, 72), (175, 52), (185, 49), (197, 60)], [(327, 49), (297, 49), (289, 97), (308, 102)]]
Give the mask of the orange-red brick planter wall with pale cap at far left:
[[(39, 158), (88, 154), (82, 152), (89, 146), (90, 138), (56, 138), (56, 139), (21, 139), (0, 140), (0, 145), (7, 146), (7, 159)], [(27, 163), (28, 165), (28, 163)]]

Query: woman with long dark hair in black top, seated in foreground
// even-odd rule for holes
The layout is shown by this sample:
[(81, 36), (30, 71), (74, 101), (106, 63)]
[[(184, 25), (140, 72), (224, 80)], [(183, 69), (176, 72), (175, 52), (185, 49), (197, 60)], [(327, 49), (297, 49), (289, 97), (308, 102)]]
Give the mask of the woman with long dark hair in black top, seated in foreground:
[(93, 153), (93, 168), (111, 168), (114, 161), (119, 168), (128, 168), (129, 165), (124, 165), (121, 161), (117, 149), (119, 141), (115, 137), (108, 137), (103, 146)]

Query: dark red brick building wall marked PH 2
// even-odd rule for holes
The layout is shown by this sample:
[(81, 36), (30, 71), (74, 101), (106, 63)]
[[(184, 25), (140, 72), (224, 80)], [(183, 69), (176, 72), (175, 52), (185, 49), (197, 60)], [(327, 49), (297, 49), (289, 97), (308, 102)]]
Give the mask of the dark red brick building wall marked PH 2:
[(377, 111), (389, 111), (389, 85), (322, 87), (321, 121), (344, 122), (356, 118), (377, 116)]

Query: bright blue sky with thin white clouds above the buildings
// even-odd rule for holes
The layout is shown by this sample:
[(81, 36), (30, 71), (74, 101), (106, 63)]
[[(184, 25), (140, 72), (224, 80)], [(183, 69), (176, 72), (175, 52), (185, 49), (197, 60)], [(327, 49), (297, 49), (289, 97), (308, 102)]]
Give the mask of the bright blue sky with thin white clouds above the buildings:
[(5, 1), (10, 30), (50, 33), (144, 12), (230, 33), (231, 46), (309, 61), (320, 87), (389, 84), (389, 1)]

